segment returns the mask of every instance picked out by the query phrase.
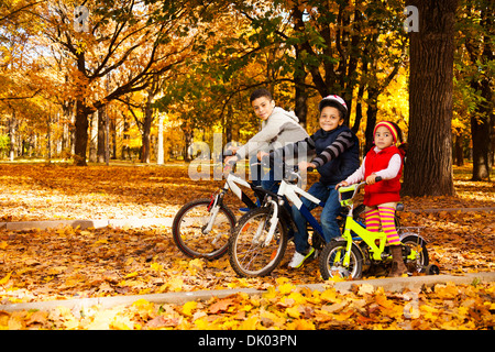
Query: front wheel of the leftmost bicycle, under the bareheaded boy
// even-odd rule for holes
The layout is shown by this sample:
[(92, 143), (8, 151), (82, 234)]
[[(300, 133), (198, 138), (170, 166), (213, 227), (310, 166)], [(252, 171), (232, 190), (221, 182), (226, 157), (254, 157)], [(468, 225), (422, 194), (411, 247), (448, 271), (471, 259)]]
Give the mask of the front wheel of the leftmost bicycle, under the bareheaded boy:
[[(209, 219), (208, 210), (211, 199), (202, 198), (184, 205), (175, 215), (172, 224), (172, 238), (177, 248), (189, 257), (216, 260), (227, 253), (230, 232), (235, 228), (237, 219), (233, 212), (222, 205), (217, 215), (215, 226), (208, 234), (202, 229)], [(194, 216), (190, 220), (188, 216)], [(185, 228), (185, 224), (190, 227)], [(215, 238), (220, 243), (212, 243)]]

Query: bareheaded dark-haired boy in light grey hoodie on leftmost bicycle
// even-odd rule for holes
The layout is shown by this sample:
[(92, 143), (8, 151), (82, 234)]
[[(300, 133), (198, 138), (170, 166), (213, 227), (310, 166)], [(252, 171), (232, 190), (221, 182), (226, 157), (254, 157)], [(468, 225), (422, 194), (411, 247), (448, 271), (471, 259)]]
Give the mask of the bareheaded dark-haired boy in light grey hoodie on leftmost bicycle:
[[(302, 141), (309, 136), (305, 129), (299, 124), (299, 119), (294, 112), (285, 111), (275, 106), (275, 101), (268, 90), (264, 88), (254, 90), (251, 94), (250, 101), (254, 109), (254, 113), (263, 120), (262, 130), (243, 146), (238, 150), (232, 148), (235, 155), (227, 157), (226, 163), (229, 163), (230, 161), (238, 162), (246, 156), (250, 156), (250, 160), (255, 160), (258, 151), (270, 152), (283, 147), (287, 143)], [(304, 155), (304, 157), (306, 157), (306, 155)], [(290, 157), (286, 160), (286, 162), (290, 163)], [(261, 182), (261, 177), (258, 177), (258, 167), (255, 169), (252, 168), (251, 173), (253, 184), (261, 185), (268, 190), (275, 191), (275, 185), (282, 179), (282, 175), (276, 175), (273, 167), (263, 178), (263, 182)]]

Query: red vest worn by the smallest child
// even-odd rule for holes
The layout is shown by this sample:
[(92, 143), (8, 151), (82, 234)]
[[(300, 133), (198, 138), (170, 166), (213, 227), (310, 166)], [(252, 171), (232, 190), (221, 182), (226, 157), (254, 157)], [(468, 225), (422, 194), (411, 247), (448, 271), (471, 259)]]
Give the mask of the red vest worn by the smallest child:
[[(372, 147), (366, 154), (366, 160), (364, 161), (364, 178), (366, 179), (373, 173), (380, 172), (388, 167), (388, 162), (394, 154), (399, 154), (403, 160), (403, 154), (395, 146), (391, 145), (378, 153)], [(369, 207), (382, 205), (384, 202), (399, 201), (399, 190), (400, 190), (400, 176), (403, 174), (403, 166), (395, 178), (381, 180), (374, 185), (366, 185), (364, 187), (364, 201), (363, 204)]]

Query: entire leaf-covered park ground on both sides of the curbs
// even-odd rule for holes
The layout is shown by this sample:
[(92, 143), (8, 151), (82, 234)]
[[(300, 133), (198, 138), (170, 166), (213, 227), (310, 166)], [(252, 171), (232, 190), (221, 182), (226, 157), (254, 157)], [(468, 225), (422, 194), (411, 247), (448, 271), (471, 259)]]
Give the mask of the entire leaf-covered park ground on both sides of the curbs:
[[(180, 165), (167, 167), (94, 166), (87, 168), (1, 165), (0, 170), (0, 206), (3, 221), (173, 217), (186, 201), (207, 197), (221, 185), (221, 182), (213, 180), (191, 182), (187, 168)], [(455, 187), (457, 197), (406, 198), (406, 208), (473, 208), (493, 207), (495, 204), (493, 183), (470, 183), (465, 169), (457, 169)], [(239, 207), (234, 199), (230, 199), (230, 201), (234, 209)], [(430, 262), (436, 263), (442, 273), (462, 274), (494, 271), (494, 218), (493, 211), (404, 212), (402, 223), (403, 226), (425, 227), (422, 235), (429, 242)], [(321, 283), (315, 262), (309, 262), (297, 271), (287, 268), (293, 251), (294, 245), (290, 244), (280, 267), (272, 276), (245, 279), (235, 276), (227, 257), (208, 262), (184, 256), (175, 248), (169, 228), (0, 230), (0, 302), (233, 287), (272, 289), (284, 284)], [(458, 287), (457, 289), (469, 290), (471, 288)], [(392, 306), (387, 308), (386, 304), (385, 307), (376, 306), (376, 304), (373, 306), (372, 300), (376, 297), (358, 295), (355, 300), (359, 302), (354, 304), (350, 296), (342, 296), (340, 299), (346, 304), (339, 311), (332, 311), (340, 307), (333, 306), (339, 304), (338, 300), (321, 302), (321, 297), (316, 297), (318, 294), (306, 293), (305, 295), (308, 297), (315, 296), (310, 298), (315, 302), (308, 309), (304, 308), (305, 305), (310, 304), (307, 301), (297, 305), (287, 304), (284, 307), (284, 304), (277, 306), (275, 301), (271, 301), (270, 297), (258, 297), (260, 305), (255, 306), (255, 301), (250, 302), (251, 298), (235, 296), (232, 298), (232, 305), (227, 305), (226, 309), (217, 312), (211, 309), (216, 301), (197, 302), (190, 315), (184, 315), (184, 307), (160, 308), (152, 307), (146, 302), (119, 311), (98, 311), (94, 316), (88, 312), (85, 317), (78, 316), (77, 312), (59, 311), (58, 314), (63, 316), (59, 320), (50, 316), (57, 312), (37, 312), (36, 315), (33, 312), (19, 312), (19, 315), (0, 312), (0, 327), (90, 328), (92, 323), (98, 323), (95, 322), (95, 319), (103, 319), (97, 317), (105, 316), (107, 320), (103, 319), (106, 322), (102, 327), (107, 328), (201, 329), (212, 324), (211, 327), (223, 329), (229, 328), (229, 323), (231, 328), (245, 328), (245, 324), (249, 324), (250, 321), (253, 323), (255, 320), (254, 318), (250, 320), (250, 315), (253, 314), (253, 317), (257, 319), (257, 326), (254, 324), (251, 328), (278, 328), (283, 317), (286, 319), (286, 322), (282, 324), (284, 328), (352, 328), (345, 323), (332, 326), (333, 318), (326, 320), (328, 317), (321, 316), (324, 314), (328, 316), (328, 311), (321, 311), (324, 310), (322, 309), (323, 305), (333, 307), (328, 308), (331, 314), (343, 314), (341, 317), (344, 317), (344, 312), (351, 308), (358, 309), (356, 311), (361, 314), (362, 318), (359, 323), (354, 321), (354, 328), (367, 329), (373, 324), (405, 329), (448, 328), (450, 320), (447, 318), (447, 320), (442, 318), (441, 321), (433, 319), (433, 316), (441, 316), (435, 309), (443, 309), (442, 314), (448, 316), (458, 314), (455, 309), (460, 309), (460, 307), (465, 308), (462, 310), (464, 314), (462, 317), (466, 318), (452, 322), (453, 328), (493, 328), (493, 320), (491, 320), (492, 322), (490, 319), (486, 320), (486, 311), (492, 314), (493, 319), (494, 288), (481, 285), (477, 289), (480, 290), (477, 294), (471, 292), (469, 295), (466, 294), (466, 298), (461, 299), (461, 304), (458, 304), (455, 300), (458, 298), (454, 297), (449, 298), (450, 300), (438, 298), (435, 294), (436, 290), (420, 293), (420, 297), (425, 301), (430, 300), (428, 295), (433, 295), (431, 296), (433, 300), (440, 299), (438, 302), (435, 301), (431, 307), (428, 306), (429, 304), (426, 306), (430, 308), (424, 308), (430, 309), (429, 312), (422, 312), (421, 305), (419, 306), (421, 317), (429, 314), (430, 320), (406, 319), (406, 321), (402, 318), (403, 320), (384, 321), (383, 324), (380, 319), (385, 318), (377, 319), (374, 314), (378, 315), (383, 309), (396, 309), (398, 315), (398, 311), (404, 310), (404, 305), (407, 304), (404, 297), (394, 298), (394, 295), (388, 297), (388, 294), (383, 293), (387, 300), (394, 304), (399, 302), (395, 308), (391, 308)], [(477, 295), (477, 298), (470, 295)], [(276, 300), (280, 301), (282, 298), (277, 296)], [(263, 299), (267, 300), (263, 301)], [(446, 304), (442, 299), (449, 301)], [(472, 301), (473, 299), (474, 301)], [(245, 308), (244, 316), (242, 312), (235, 317), (230, 315), (230, 318), (222, 316), (229, 314), (229, 309), (232, 310), (230, 312), (234, 312), (239, 311), (240, 307), (250, 306), (252, 306), (252, 311)], [(290, 308), (294, 308), (289, 310), (292, 314), (287, 312), (287, 309)], [(282, 315), (282, 318), (278, 319), (268, 312)], [(108, 316), (106, 316), (107, 314)], [(263, 319), (258, 319), (263, 318), (262, 314), (271, 317), (265, 317), (270, 319), (265, 319), (266, 323), (263, 322)], [(72, 318), (70, 315), (73, 315)], [(135, 315), (145, 317), (132, 318)], [(308, 320), (305, 317), (311, 319)], [(298, 323), (298, 321), (300, 326), (290, 324)], [(301, 321), (307, 321), (307, 323), (312, 321), (312, 326), (304, 326)]]

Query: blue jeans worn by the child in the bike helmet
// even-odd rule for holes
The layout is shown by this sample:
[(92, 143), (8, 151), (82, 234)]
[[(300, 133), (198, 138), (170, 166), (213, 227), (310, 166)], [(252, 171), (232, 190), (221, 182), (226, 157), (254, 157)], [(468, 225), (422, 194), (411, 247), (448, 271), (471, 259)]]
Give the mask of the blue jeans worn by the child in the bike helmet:
[[(324, 202), (324, 207), (320, 216), (324, 241), (330, 242), (331, 239), (340, 237), (341, 233), (337, 222), (337, 217), (341, 212), (342, 207), (339, 202), (339, 193), (336, 189), (336, 185), (326, 186), (321, 183), (316, 183), (309, 188), (308, 194)], [(304, 197), (301, 197), (301, 200), (302, 205), (305, 205), (308, 210), (312, 210), (317, 207), (316, 204)], [(307, 220), (295, 206), (293, 206), (292, 210), (293, 219), (297, 227), (297, 232), (294, 233), (294, 243), (296, 244), (296, 251), (304, 254), (309, 250), (308, 230), (306, 228)]]

